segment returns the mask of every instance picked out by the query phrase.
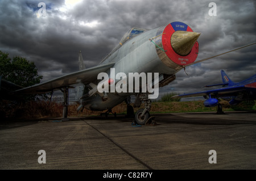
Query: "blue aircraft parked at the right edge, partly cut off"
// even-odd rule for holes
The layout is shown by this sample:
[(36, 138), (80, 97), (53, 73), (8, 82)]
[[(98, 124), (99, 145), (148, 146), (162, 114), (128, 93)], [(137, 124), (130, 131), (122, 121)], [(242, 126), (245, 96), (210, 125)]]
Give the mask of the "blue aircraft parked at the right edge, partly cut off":
[(222, 82), (217, 85), (210, 85), (205, 87), (223, 86), (221, 89), (213, 89), (191, 94), (175, 95), (172, 98), (187, 98), (191, 96), (204, 96), (205, 107), (218, 106), (217, 113), (223, 113), (222, 106), (219, 103), (220, 99), (228, 100), (230, 105), (236, 105), (243, 100), (256, 100), (256, 74), (241, 82), (233, 82), (224, 70), (221, 70)]

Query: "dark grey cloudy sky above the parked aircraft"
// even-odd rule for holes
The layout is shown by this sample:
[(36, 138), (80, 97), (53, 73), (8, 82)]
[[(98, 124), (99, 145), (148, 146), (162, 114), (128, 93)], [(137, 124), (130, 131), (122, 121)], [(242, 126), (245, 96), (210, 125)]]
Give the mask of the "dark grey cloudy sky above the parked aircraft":
[[(40, 14), (39, 3), (46, 4)], [(217, 15), (210, 16), (210, 2)], [(0, 50), (35, 62), (43, 81), (97, 65), (131, 27), (157, 28), (180, 21), (201, 32), (197, 60), (256, 41), (256, 2), (250, 0), (0, 0)], [(40, 11), (43, 12), (43, 11)], [(161, 92), (188, 93), (221, 83), (223, 69), (235, 81), (256, 73), (256, 45), (179, 71)]]

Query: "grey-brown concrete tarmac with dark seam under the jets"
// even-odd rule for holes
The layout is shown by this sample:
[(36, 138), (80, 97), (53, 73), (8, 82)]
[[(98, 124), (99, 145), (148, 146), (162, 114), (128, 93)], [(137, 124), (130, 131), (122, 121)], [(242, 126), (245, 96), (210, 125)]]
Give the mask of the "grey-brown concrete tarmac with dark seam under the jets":
[(256, 169), (256, 112), (151, 116), (141, 127), (125, 115), (0, 121), (0, 169)]

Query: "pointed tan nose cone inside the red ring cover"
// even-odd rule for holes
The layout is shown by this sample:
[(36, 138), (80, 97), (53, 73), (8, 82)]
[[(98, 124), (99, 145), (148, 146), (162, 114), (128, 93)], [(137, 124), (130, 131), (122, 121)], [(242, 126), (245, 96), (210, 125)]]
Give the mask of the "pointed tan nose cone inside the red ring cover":
[(171, 37), (172, 49), (180, 56), (187, 56), (201, 33), (190, 31), (175, 31)]

